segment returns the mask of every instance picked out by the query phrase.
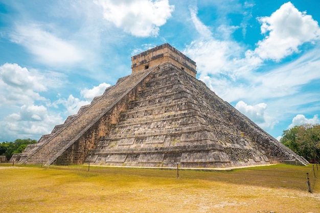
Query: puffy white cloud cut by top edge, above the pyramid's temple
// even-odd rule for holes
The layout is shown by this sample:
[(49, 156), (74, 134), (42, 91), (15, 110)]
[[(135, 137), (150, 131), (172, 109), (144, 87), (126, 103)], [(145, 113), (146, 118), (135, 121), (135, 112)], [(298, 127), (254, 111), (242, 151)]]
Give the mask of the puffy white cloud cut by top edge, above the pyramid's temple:
[(117, 28), (137, 37), (157, 36), (159, 26), (171, 17), (174, 6), (168, 0), (96, 0), (103, 16)]

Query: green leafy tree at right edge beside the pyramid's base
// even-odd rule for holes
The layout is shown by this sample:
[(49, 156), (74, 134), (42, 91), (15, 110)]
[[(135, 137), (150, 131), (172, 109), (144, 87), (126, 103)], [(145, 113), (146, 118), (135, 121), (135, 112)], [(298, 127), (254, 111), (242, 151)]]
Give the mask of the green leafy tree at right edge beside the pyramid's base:
[(310, 160), (320, 157), (320, 124), (303, 124), (284, 130), (280, 142)]

